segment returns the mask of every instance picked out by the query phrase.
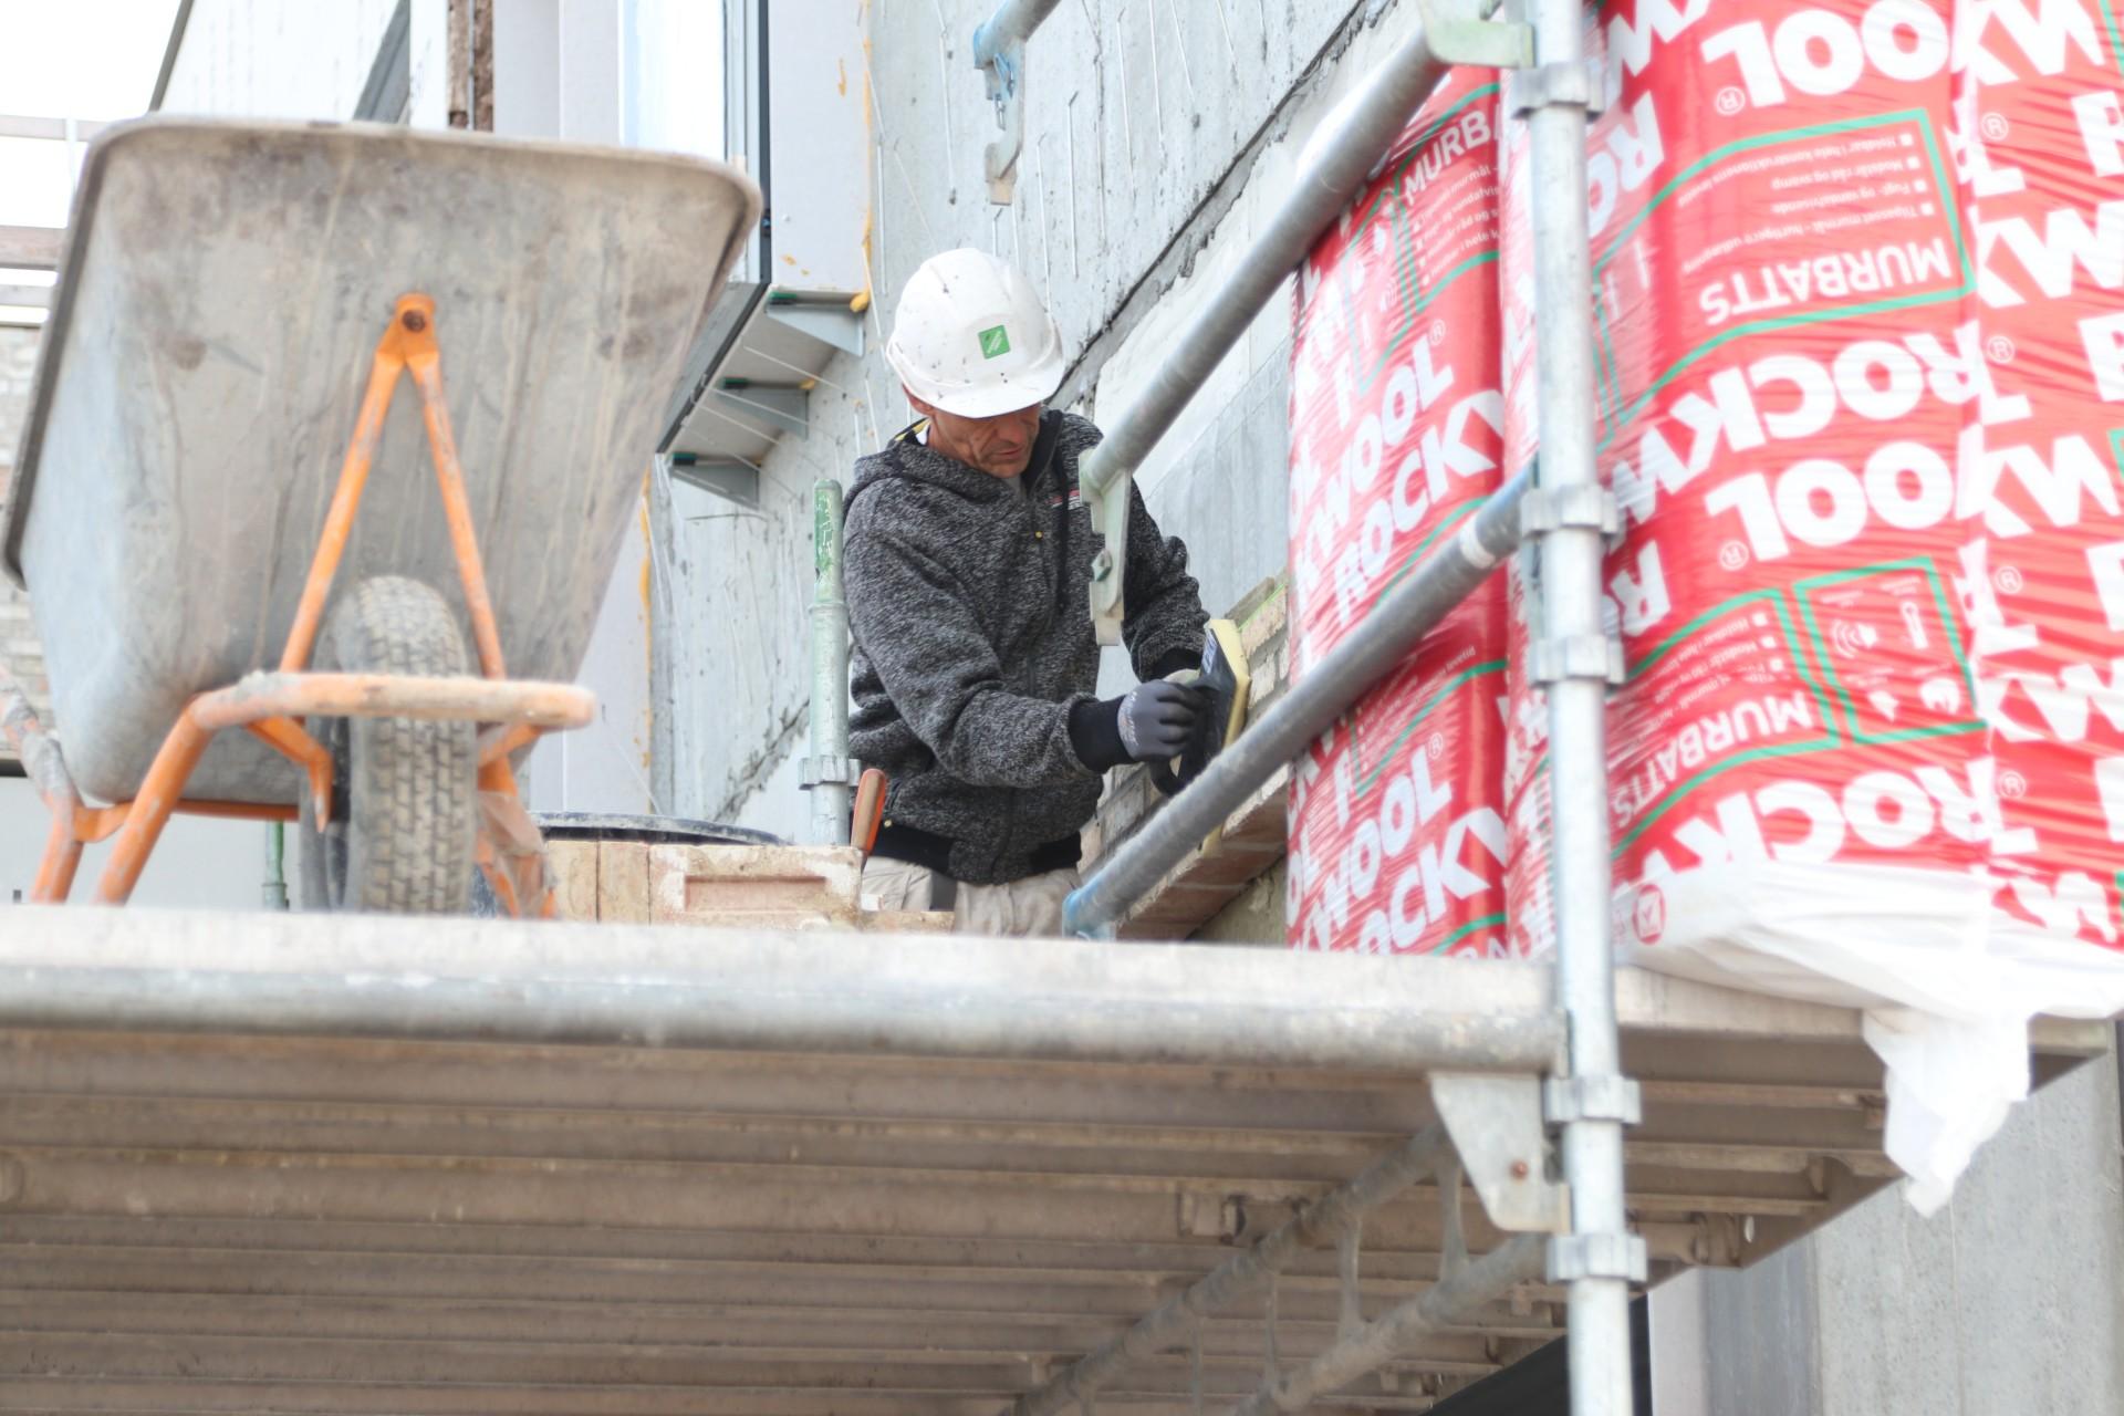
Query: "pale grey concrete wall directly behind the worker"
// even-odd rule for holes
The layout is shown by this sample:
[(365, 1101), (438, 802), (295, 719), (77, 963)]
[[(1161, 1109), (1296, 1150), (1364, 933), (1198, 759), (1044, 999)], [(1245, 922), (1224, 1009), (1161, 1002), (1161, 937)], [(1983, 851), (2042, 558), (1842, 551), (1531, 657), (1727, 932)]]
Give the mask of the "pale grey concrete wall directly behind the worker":
[[(1332, 102), (1415, 21), (1410, 0), (1068, 0), (1028, 49), (1017, 200), (998, 208), (981, 183), (994, 117), (966, 55), (990, 8), (873, 4), (871, 350), (826, 369), (809, 437), (784, 439), (765, 465), (758, 514), (673, 518), (684, 650), (658, 766), (686, 815), (769, 828), (803, 815), (769, 792), (790, 781), (809, 690), (807, 488), (845, 480), (909, 418), (881, 348), (913, 267), (962, 244), (1013, 259), (1075, 359), (1058, 401), (1111, 416), (1213, 297)], [(1194, 548), (1213, 611), (1285, 560), (1287, 363), (1289, 299), (1277, 297), (1141, 476), (1160, 524)], [(1126, 669), (1104, 681), (1126, 684)]]

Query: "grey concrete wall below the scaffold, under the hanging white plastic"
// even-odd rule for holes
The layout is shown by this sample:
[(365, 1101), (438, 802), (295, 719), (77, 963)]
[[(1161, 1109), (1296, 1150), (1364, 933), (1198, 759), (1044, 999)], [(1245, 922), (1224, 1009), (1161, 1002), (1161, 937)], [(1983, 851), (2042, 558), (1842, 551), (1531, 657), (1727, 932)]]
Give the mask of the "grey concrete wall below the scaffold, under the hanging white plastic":
[(1920, 1219), (1890, 1189), (1752, 1270), (1652, 1295), (1659, 1416), (2116, 1416), (2124, 1161), (2101, 1057)]

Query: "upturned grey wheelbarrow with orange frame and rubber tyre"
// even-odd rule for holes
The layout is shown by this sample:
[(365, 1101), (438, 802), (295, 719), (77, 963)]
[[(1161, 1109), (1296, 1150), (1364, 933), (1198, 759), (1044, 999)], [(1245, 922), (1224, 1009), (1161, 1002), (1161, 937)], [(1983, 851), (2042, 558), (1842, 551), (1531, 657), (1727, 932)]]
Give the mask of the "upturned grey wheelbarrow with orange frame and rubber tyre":
[(189, 811), (297, 822), (312, 909), (461, 911), (476, 866), (550, 913), (514, 766), (595, 715), (569, 679), (758, 217), (673, 155), (106, 129), (0, 512), (55, 718), (0, 694), (53, 811), (34, 898), (115, 836), (123, 902)]

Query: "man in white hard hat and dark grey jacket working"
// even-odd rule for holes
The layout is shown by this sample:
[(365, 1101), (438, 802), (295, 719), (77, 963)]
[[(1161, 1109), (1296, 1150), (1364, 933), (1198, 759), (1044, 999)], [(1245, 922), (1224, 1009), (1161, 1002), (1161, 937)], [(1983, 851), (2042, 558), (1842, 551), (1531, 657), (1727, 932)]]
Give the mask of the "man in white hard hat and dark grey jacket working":
[(1100, 775), (1170, 758), (1200, 701), (1187, 548), (1130, 493), (1138, 688), (1096, 698), (1087, 590), (1100, 550), (1077, 497), (1098, 429), (1043, 408), (1062, 335), (1032, 284), (981, 251), (922, 263), (886, 359), (920, 420), (856, 463), (847, 505), (850, 747), (890, 777), (862, 873), (884, 909), (956, 909), (964, 934), (1060, 934)]

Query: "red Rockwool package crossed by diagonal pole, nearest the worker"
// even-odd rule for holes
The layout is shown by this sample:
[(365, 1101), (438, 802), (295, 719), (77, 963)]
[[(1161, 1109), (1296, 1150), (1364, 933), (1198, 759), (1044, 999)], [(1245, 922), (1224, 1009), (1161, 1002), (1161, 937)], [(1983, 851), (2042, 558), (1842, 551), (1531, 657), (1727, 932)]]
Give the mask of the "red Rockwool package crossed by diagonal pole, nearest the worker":
[[(1300, 272), (1291, 673), (1497, 488), (1497, 79), (1461, 70)], [(1491, 582), (1298, 764), (1298, 949), (1506, 943), (1504, 588)]]

